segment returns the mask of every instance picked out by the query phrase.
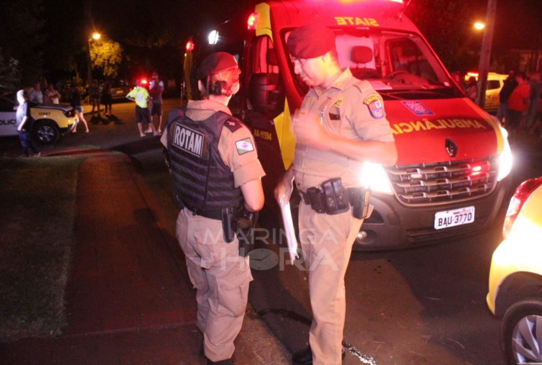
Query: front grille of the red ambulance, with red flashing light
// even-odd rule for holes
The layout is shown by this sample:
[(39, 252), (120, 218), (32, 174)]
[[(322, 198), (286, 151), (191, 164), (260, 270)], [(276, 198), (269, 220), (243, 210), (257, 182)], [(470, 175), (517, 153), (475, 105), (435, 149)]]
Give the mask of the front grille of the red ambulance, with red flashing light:
[(395, 165), (388, 169), (393, 190), (406, 206), (468, 201), (491, 194), (499, 157)]

